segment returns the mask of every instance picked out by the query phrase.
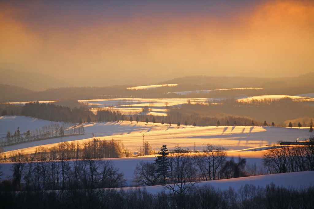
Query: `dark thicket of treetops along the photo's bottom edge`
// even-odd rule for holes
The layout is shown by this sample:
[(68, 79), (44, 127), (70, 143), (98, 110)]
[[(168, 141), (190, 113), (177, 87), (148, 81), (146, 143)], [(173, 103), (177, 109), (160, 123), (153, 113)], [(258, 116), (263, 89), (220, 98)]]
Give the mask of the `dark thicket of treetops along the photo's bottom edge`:
[(151, 194), (134, 188), (73, 189), (64, 191), (0, 192), (3, 208), (212, 208), (212, 209), (311, 209), (314, 205), (314, 187), (285, 188), (275, 184), (260, 187), (244, 185), (238, 191), (215, 189), (210, 185), (194, 187), (184, 195), (162, 191)]

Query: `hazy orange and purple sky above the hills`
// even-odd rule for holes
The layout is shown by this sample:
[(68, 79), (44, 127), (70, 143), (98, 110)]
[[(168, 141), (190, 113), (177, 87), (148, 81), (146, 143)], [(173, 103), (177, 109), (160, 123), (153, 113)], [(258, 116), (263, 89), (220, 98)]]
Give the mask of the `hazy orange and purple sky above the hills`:
[(314, 71), (314, 1), (0, 1), (0, 68), (77, 86)]

